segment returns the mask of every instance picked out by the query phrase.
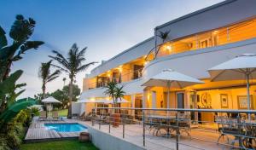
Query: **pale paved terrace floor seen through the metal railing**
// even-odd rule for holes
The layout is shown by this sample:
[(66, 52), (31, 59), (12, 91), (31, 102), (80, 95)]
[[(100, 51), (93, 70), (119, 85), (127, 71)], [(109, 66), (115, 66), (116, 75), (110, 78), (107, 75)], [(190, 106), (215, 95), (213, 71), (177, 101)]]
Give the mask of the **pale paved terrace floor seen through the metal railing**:
[[(90, 126), (94, 130), (99, 130), (99, 124), (91, 125), (91, 122), (81, 122), (86, 126)], [(100, 131), (108, 133), (109, 125), (101, 125)], [(109, 133), (108, 133), (109, 134)], [(92, 135), (93, 136), (93, 135)], [(111, 127), (109, 136), (115, 136), (123, 139), (123, 126), (119, 125), (118, 128)], [(218, 150), (218, 149), (230, 149), (223, 145), (218, 145), (218, 132), (216, 130), (191, 130), (191, 138), (187, 134), (183, 133), (180, 138), (179, 149), (191, 150), (191, 149), (207, 149), (207, 150)], [(139, 124), (126, 124), (125, 125), (125, 141), (136, 144), (137, 146), (143, 147), (143, 128)], [(224, 141), (220, 140), (220, 143)], [(166, 138), (161, 136), (152, 136), (146, 130), (146, 149), (148, 150), (169, 150), (176, 149), (176, 137)]]

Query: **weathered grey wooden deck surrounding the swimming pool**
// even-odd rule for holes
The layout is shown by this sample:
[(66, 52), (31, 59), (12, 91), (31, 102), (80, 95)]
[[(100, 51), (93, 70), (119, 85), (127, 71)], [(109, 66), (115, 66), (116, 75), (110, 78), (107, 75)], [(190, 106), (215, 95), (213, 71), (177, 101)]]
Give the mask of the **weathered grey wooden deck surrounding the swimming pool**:
[(52, 139), (61, 138), (75, 138), (79, 136), (80, 132), (57, 132), (55, 130), (47, 130), (44, 124), (70, 124), (78, 123), (75, 120), (62, 120), (62, 121), (38, 121), (34, 118), (32, 124), (26, 132), (25, 141), (47, 141)]

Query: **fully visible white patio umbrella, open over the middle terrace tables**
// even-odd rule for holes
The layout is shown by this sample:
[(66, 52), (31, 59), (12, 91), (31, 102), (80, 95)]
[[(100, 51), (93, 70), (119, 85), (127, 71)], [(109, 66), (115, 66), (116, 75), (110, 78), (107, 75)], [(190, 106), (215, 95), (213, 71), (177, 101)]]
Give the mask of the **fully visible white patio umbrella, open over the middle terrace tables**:
[(166, 69), (155, 75), (152, 78), (149, 78), (147, 82), (145, 82), (142, 86), (161, 86), (167, 87), (167, 108), (170, 105), (170, 88), (183, 89), (187, 86), (194, 84), (203, 84), (204, 82), (184, 75), (180, 72), (175, 72), (172, 69)]

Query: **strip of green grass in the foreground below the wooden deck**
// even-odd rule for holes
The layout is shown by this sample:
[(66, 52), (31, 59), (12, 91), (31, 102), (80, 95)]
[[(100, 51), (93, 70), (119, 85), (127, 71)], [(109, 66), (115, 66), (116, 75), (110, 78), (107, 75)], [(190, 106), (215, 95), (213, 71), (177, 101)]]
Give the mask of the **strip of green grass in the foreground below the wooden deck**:
[(78, 140), (46, 141), (22, 144), (20, 150), (98, 150), (92, 143), (81, 143)]

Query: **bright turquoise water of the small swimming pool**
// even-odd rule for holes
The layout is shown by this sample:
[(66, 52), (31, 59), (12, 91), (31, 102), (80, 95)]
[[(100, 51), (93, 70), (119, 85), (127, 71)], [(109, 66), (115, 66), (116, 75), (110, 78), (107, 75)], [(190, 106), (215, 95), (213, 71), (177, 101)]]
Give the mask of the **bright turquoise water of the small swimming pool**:
[(87, 128), (81, 124), (44, 124), (47, 130), (55, 130), (57, 132), (79, 132)]

